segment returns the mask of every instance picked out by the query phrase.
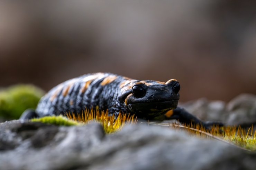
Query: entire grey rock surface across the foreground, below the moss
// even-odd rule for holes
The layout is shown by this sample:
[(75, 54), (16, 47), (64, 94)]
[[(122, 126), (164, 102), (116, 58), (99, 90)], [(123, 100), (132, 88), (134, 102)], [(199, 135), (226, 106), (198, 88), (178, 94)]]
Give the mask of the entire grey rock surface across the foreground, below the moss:
[(159, 126), (126, 126), (104, 134), (100, 124), (56, 127), (36, 122), (0, 124), (1, 170), (247, 169), (256, 153)]

